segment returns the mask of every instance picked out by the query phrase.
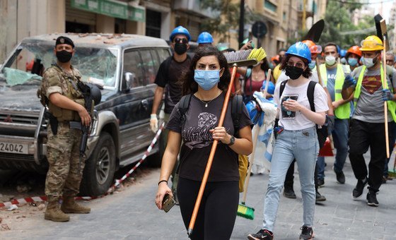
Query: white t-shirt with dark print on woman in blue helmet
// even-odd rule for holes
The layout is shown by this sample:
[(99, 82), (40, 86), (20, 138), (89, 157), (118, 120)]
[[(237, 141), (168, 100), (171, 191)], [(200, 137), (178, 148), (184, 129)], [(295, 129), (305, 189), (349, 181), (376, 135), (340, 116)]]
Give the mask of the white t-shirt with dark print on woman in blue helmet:
[[(279, 97), (280, 84), (276, 85), (274, 92), (274, 102), (278, 105), (279, 109), (279, 126), (283, 126), (286, 130), (302, 130), (315, 126), (313, 121), (307, 119), (301, 112), (286, 111), (282, 107), (283, 101), (291, 98), (296, 100), (299, 104), (307, 109), (310, 109), (310, 104), (307, 96), (308, 84), (304, 83), (298, 87), (292, 87), (289, 83), (286, 83), (284, 92)], [(315, 104), (315, 112), (326, 112), (329, 107), (327, 106), (327, 95), (325, 90), (319, 84), (315, 85), (315, 91), (313, 93), (313, 102)]]

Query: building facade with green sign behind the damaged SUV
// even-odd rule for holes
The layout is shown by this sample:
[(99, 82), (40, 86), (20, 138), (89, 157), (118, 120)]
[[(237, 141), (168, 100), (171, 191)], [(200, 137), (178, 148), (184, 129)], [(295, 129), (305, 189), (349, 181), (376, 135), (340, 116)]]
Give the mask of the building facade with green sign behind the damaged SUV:
[(52, 32), (127, 33), (168, 40), (177, 25), (197, 40), (210, 16), (199, 0), (1, 0), (0, 62), (24, 37)]

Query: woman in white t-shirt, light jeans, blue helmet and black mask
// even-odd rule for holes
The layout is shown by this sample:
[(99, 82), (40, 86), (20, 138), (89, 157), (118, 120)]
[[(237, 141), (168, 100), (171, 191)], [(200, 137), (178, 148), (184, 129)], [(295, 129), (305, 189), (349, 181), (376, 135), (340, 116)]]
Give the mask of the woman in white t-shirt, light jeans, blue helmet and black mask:
[(281, 65), (289, 76), (284, 91), (279, 97), (280, 85), (276, 85), (274, 102), (278, 104), (278, 136), (272, 153), (271, 172), (264, 200), (264, 220), (257, 234), (249, 234), (248, 239), (273, 239), (272, 233), (279, 206), (279, 196), (289, 165), (296, 158), (303, 197), (303, 227), (300, 239), (313, 237), (313, 215), (315, 212), (315, 162), (319, 152), (315, 124), (325, 124), (327, 96), (325, 90), (315, 85), (315, 112), (310, 110), (307, 97), (311, 70), (310, 49), (306, 44), (297, 42), (286, 52), (286, 61)]

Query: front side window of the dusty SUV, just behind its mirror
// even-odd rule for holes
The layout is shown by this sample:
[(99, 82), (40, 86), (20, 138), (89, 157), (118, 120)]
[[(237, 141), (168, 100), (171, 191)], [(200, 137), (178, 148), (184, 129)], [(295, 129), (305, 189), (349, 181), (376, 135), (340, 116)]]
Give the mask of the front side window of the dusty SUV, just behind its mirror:
[(134, 74), (134, 81), (132, 82), (131, 88), (144, 85), (144, 66), (141, 63), (142, 61), (137, 50), (124, 53), (124, 73), (129, 72)]

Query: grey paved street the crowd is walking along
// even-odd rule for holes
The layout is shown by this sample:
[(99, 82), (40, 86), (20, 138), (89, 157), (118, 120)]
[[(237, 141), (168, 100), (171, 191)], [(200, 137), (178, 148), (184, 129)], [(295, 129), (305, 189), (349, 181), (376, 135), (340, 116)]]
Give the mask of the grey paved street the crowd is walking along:
[[(325, 186), (320, 193), (327, 200), (316, 205), (315, 239), (396, 239), (396, 179), (381, 186), (380, 206), (373, 208), (366, 205), (367, 189), (359, 200), (352, 199), (356, 179), (349, 160), (344, 167), (347, 179), (344, 185), (337, 184), (332, 171), (334, 157), (326, 157), (326, 162)], [(297, 199), (281, 196), (275, 239), (298, 239), (301, 232), (303, 212), (297, 171), (294, 184)], [(92, 208), (91, 214), (71, 215), (70, 222), (57, 223), (43, 220), (40, 213), (25, 218), (10, 231), (0, 232), (0, 239), (187, 239), (179, 207), (165, 213), (154, 204), (158, 176), (159, 169), (152, 169), (119, 193), (83, 203)], [(267, 175), (250, 178), (246, 204), (255, 208), (255, 219), (237, 217), (231, 239), (246, 239), (249, 233), (262, 227), (267, 181)]]

